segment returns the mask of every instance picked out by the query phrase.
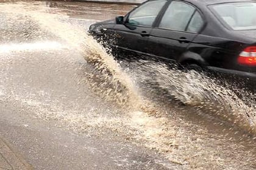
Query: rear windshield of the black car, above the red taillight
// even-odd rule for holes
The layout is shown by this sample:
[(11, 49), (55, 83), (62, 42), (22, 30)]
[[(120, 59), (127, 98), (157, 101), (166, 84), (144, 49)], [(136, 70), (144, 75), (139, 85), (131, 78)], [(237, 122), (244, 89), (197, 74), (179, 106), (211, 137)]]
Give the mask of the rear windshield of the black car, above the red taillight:
[(213, 5), (219, 19), (233, 30), (256, 29), (256, 3), (236, 2)]

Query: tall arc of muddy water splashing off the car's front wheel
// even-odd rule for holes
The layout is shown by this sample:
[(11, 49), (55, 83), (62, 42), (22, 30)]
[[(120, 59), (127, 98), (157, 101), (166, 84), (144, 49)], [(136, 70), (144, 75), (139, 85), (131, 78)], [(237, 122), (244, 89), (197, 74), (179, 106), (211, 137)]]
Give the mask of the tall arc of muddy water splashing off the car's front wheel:
[[(87, 35), (84, 29), (77, 25), (60, 22), (56, 15), (38, 14), (38, 12), (29, 12), (29, 14), (40, 23), (42, 29), (48, 30), (68, 42), (69, 46), (82, 53), (87, 63), (94, 66), (94, 72), (88, 73), (86, 79), (94, 92), (106, 100), (115, 101), (115, 104), (121, 107), (130, 109), (140, 107), (140, 95), (135, 89), (132, 79), (122, 71), (119, 64), (95, 39)], [(76, 31), (74, 32), (74, 30)]]

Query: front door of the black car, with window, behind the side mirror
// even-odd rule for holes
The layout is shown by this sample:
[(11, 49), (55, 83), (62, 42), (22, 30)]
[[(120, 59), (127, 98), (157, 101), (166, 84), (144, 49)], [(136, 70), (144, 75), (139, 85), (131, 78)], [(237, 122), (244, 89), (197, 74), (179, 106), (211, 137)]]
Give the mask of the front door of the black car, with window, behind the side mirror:
[(125, 17), (124, 24), (116, 24), (113, 28), (116, 33), (116, 45), (124, 50), (146, 53), (152, 25), (166, 2), (166, 0), (148, 1), (132, 10)]

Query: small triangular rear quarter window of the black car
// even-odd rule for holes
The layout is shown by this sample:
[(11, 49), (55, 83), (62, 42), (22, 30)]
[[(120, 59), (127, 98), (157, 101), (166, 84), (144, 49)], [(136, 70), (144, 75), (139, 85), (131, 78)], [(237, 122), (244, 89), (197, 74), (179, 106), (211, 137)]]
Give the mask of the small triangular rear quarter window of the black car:
[(188, 25), (187, 32), (198, 33), (204, 25), (204, 20), (199, 12), (194, 13), (193, 18)]

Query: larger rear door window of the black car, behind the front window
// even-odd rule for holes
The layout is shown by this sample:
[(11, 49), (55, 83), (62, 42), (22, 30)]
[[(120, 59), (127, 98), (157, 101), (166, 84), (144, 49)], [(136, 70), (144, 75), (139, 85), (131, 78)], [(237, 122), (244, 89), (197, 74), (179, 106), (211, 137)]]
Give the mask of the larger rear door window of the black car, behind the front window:
[(196, 9), (184, 2), (173, 1), (169, 5), (159, 27), (162, 29), (185, 31)]

